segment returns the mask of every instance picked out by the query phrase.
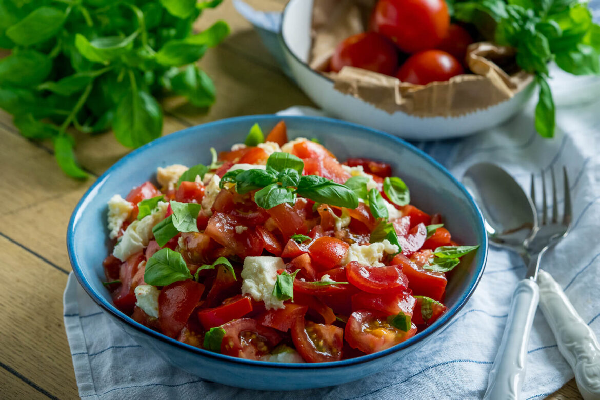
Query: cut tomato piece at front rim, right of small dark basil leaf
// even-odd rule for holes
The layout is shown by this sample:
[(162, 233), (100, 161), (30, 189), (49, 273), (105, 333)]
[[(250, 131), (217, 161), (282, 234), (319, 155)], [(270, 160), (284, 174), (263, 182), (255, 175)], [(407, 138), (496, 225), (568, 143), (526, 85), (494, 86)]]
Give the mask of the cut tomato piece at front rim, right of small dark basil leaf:
[(221, 353), (227, 356), (257, 360), (281, 341), (277, 330), (262, 326), (251, 318), (233, 320), (222, 327), (225, 336), (221, 342)]

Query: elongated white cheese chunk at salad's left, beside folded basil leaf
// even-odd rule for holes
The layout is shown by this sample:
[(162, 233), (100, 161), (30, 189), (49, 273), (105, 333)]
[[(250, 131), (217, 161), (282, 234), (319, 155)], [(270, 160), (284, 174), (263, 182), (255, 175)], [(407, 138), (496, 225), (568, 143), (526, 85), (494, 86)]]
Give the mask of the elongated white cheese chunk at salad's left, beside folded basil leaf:
[(113, 255), (119, 260), (125, 261), (131, 255), (142, 251), (143, 248), (148, 246), (148, 242), (154, 237), (152, 228), (164, 219), (168, 207), (169, 203), (158, 201), (157, 209), (151, 215), (146, 215), (142, 219), (131, 222), (125, 229), (121, 240), (116, 243)]

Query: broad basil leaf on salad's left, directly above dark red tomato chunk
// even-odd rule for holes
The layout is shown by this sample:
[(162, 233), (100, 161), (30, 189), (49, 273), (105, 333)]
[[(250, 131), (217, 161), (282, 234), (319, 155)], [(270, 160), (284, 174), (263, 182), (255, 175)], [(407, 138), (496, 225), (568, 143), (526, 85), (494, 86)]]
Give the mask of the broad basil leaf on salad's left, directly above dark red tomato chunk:
[(182, 255), (170, 248), (158, 250), (146, 261), (144, 282), (149, 285), (166, 286), (192, 278)]

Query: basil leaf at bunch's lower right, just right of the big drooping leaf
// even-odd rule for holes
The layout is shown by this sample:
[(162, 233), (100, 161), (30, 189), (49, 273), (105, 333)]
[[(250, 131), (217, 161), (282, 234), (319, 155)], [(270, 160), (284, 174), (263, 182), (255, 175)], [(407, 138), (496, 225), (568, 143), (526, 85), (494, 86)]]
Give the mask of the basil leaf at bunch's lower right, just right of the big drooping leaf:
[(185, 96), (196, 107), (215, 103), (216, 89), (212, 79), (196, 65), (190, 64), (171, 79), (171, 88)]

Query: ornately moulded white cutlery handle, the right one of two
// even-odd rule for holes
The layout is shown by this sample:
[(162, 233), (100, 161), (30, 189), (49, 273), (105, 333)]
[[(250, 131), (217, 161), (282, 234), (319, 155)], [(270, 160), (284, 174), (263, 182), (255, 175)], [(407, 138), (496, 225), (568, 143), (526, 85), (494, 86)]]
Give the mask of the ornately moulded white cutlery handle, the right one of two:
[(539, 305), (586, 400), (600, 399), (600, 345), (550, 273), (539, 271)]

